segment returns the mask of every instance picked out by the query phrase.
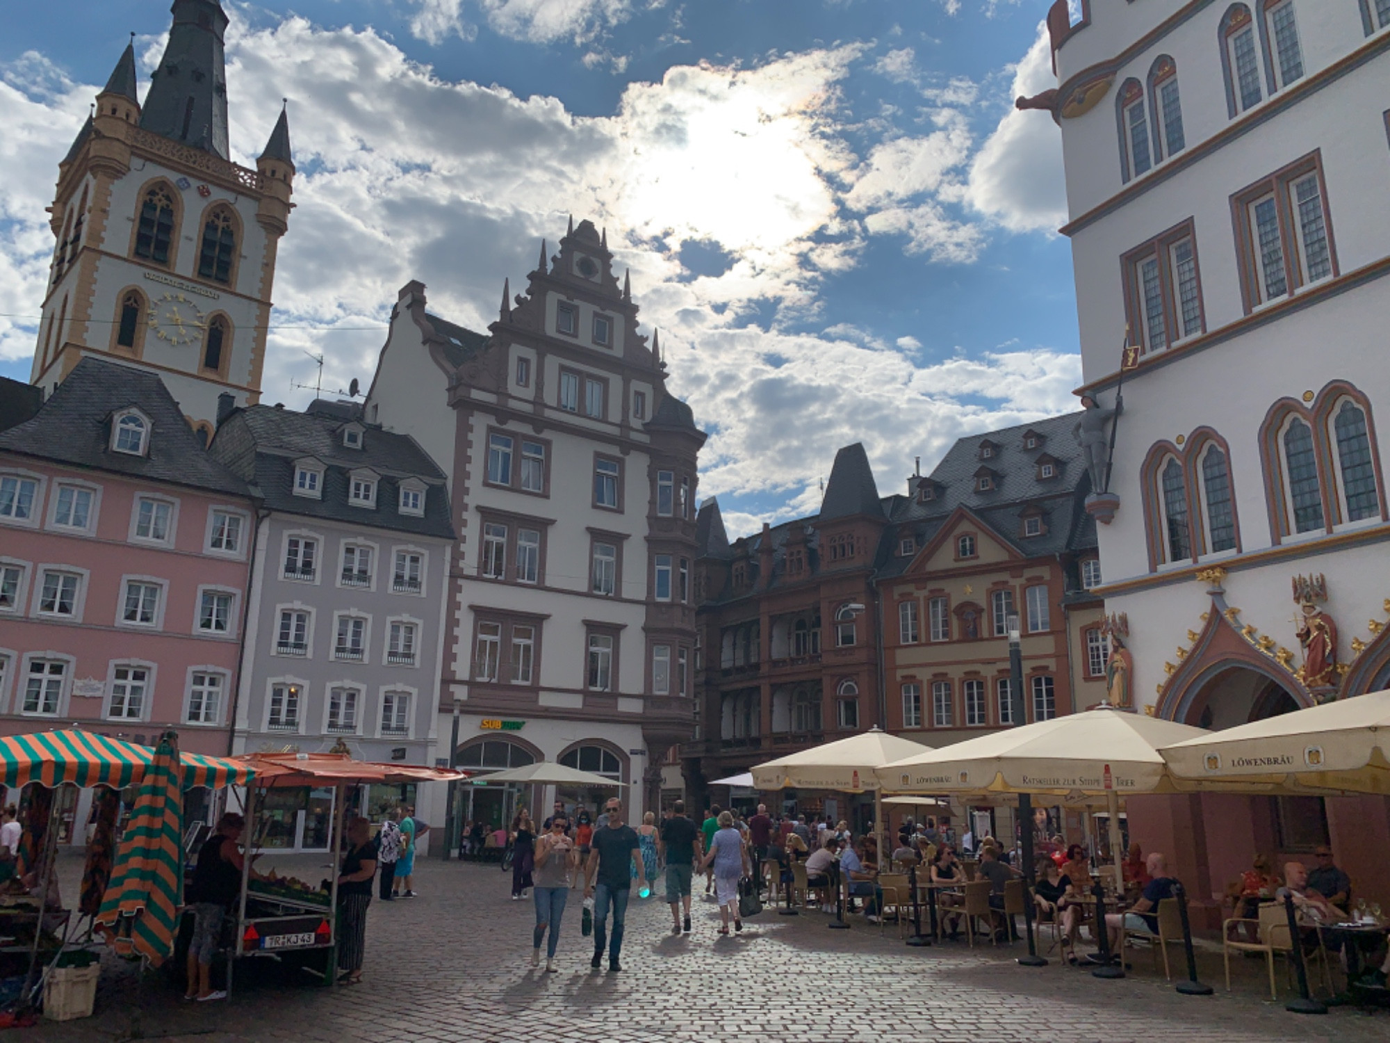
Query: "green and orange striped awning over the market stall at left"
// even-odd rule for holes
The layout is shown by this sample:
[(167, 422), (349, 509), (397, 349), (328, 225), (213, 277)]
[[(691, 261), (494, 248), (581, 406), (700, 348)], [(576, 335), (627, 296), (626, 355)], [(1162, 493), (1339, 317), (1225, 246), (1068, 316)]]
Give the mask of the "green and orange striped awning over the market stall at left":
[[(0, 738), (0, 783), (14, 789), (36, 782), (124, 790), (140, 783), (153, 759), (149, 747), (82, 729), (7, 736)], [(243, 784), (256, 776), (252, 765), (221, 757), (182, 754), (181, 763), (185, 790)]]

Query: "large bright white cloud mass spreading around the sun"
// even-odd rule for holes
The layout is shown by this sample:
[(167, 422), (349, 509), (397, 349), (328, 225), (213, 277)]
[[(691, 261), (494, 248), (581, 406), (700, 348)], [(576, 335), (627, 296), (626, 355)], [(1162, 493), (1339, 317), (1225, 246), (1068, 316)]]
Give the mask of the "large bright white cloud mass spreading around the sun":
[[(538, 18), (541, 7), (527, 10)], [(591, 18), (627, 10), (564, 10), (581, 7)], [(1069, 406), (1076, 359), (1049, 348), (923, 366), (912, 337), (835, 317), (819, 334), (792, 332), (824, 306), (823, 280), (856, 264), (866, 235), (902, 236), (906, 250), (948, 263), (984, 245), (954, 203), (972, 149), (960, 117), (934, 110), (930, 134), (851, 143), (838, 88), (865, 63), (859, 45), (748, 68), (673, 67), (660, 82), (628, 83), (612, 115), (581, 117), (553, 97), (443, 81), (371, 29), (303, 18), (250, 29), (232, 17), (236, 159), (260, 152), (288, 96), (300, 170), (267, 402), (304, 401), (291, 389), (313, 377), (303, 350), (327, 355), (325, 388), (366, 381), (407, 280), (428, 284), (431, 309), (485, 328), (503, 277), (518, 289), (539, 239), (553, 246), (574, 213), (607, 227), (644, 324), (662, 330), (673, 391), (712, 431), (702, 495), (777, 498), (783, 516), (815, 510), (817, 480), (848, 442), (863, 441), (888, 481), (960, 432)], [(46, 86), (25, 96), (0, 78), (0, 310), (32, 314), (53, 245), (43, 207), (96, 88), (24, 78)], [(691, 239), (720, 250), (727, 270), (692, 278), (680, 261)], [(306, 325), (318, 328), (291, 328)], [(31, 353), (33, 339), (32, 324), (0, 325), (8, 357)], [(731, 531), (758, 520), (730, 506)]]

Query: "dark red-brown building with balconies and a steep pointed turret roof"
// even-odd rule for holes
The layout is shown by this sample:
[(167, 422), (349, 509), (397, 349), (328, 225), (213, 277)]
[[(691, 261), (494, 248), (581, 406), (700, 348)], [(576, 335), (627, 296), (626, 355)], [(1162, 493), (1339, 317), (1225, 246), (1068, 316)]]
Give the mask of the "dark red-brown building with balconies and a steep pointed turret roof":
[[(887, 523), (858, 442), (835, 453), (812, 517), (730, 545), (719, 502), (701, 505), (699, 733), (681, 747), (696, 804), (714, 779), (884, 726), (873, 580)], [(783, 797), (802, 811), (828, 807), (821, 794)]]

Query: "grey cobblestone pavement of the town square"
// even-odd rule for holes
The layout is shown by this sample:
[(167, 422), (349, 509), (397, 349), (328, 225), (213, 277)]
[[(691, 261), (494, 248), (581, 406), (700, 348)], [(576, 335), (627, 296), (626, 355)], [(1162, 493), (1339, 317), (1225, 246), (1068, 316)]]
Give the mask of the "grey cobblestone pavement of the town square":
[[(288, 859), (282, 859), (288, 862)], [(304, 879), (321, 857), (282, 865)], [(417, 864), (420, 897), (374, 901), (361, 985), (328, 990), (238, 971), (231, 1003), (185, 1004), (163, 975), (136, 985), (128, 964), (107, 957), (96, 1017), (40, 1024), (14, 1039), (110, 1043), (192, 1040), (613, 1040), (632, 1043), (815, 1039), (963, 1040), (991, 1043), (1272, 1043), (1390, 1039), (1390, 1011), (1334, 1010), (1325, 1018), (1289, 1014), (1264, 992), (1264, 964), (1237, 961), (1233, 993), (1220, 985), (1220, 955), (1201, 960), (1212, 997), (1184, 997), (1147, 953), (1125, 980), (1097, 980), (1054, 958), (1020, 968), (1022, 946), (962, 943), (909, 948), (890, 925), (853, 918), (828, 930), (820, 914), (749, 921), (719, 937), (713, 903), (695, 900), (695, 932), (670, 935), (670, 914), (634, 896), (621, 973), (591, 971), (580, 935), (580, 891), (560, 935), (560, 973), (530, 967), (534, 907), (509, 901), (510, 876), (496, 866), (435, 859)], [(702, 890), (696, 882), (696, 891)], [(1283, 990), (1283, 969), (1279, 968)], [(252, 978), (259, 980), (252, 982)]]

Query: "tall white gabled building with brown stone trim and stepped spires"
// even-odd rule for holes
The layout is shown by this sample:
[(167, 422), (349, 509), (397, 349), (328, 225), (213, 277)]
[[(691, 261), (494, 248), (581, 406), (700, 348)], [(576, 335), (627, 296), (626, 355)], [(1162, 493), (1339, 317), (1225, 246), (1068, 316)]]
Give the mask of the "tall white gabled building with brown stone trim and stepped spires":
[[(423, 284), (402, 288), (366, 417), (414, 435), (449, 474), (438, 712), (441, 740), (457, 729), (453, 763), (609, 775), (632, 786), (638, 819), (664, 751), (692, 729), (705, 434), (666, 389), (606, 235), (571, 221), (546, 253), (525, 293), (503, 285), (485, 335), (428, 312)], [(503, 820), (518, 797), (470, 787), (461, 812)]]

